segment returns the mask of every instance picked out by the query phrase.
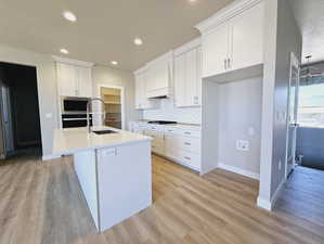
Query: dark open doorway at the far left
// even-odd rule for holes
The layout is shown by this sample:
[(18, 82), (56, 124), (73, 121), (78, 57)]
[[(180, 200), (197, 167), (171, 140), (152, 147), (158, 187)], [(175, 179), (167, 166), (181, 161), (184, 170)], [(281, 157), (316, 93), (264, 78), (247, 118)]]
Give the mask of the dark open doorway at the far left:
[(0, 63), (1, 155), (41, 156), (36, 67)]

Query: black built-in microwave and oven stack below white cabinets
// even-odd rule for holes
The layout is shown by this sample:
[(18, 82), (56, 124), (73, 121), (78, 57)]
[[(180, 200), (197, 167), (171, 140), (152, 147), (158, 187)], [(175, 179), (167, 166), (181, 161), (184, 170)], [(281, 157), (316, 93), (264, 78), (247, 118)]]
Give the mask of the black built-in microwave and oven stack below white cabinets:
[[(88, 98), (68, 98), (61, 99), (62, 127), (75, 128), (87, 126), (87, 104)], [(90, 125), (92, 125), (92, 115), (90, 115)]]

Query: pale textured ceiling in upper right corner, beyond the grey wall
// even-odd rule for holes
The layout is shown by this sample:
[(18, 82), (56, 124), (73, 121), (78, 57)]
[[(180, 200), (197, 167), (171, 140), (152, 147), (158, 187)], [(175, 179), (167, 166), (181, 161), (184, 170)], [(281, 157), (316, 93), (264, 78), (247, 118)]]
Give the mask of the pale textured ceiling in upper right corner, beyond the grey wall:
[(324, 0), (290, 0), (295, 18), (302, 33), (302, 57), (324, 61)]

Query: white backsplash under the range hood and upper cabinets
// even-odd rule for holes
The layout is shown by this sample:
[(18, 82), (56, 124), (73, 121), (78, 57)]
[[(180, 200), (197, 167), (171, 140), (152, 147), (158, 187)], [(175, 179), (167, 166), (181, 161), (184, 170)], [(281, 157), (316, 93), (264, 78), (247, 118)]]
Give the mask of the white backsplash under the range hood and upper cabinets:
[(174, 107), (171, 99), (160, 100), (157, 110), (143, 111), (143, 119), (202, 124), (200, 107)]

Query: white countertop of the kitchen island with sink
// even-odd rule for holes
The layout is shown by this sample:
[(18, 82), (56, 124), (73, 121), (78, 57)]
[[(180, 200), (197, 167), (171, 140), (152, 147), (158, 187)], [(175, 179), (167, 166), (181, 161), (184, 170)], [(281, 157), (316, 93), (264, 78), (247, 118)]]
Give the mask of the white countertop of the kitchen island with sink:
[(93, 130), (106, 129), (118, 131), (118, 133), (89, 134), (86, 127), (55, 129), (52, 153), (54, 155), (68, 155), (85, 150), (104, 149), (122, 145), (126, 143), (152, 140), (152, 138), (150, 137), (145, 137), (139, 133), (132, 133), (125, 130), (118, 130), (111, 127), (93, 128)]

